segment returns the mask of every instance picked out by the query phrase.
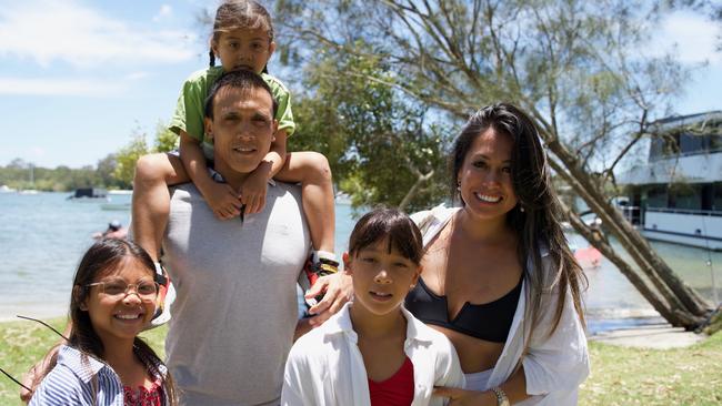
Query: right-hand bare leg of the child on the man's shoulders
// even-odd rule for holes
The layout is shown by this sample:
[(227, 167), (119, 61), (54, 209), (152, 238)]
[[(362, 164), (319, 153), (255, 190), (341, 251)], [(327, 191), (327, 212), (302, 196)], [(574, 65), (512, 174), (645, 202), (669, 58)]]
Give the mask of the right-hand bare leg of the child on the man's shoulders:
[(329, 161), (318, 152), (289, 152), (275, 179), (300, 182), (303, 212), (317, 251), (333, 253), (335, 210)]

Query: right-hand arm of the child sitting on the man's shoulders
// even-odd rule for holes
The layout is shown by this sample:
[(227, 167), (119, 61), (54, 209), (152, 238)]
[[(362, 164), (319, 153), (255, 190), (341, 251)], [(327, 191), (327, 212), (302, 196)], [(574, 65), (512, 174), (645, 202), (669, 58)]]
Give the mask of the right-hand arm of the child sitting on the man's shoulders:
[(245, 204), (245, 214), (259, 213), (265, 205), (267, 184), (270, 179), (281, 171), (285, 163), (284, 129), (275, 132), (275, 140), (271, 150), (263, 156), (263, 161), (251, 172), (241, 186), (241, 202)]

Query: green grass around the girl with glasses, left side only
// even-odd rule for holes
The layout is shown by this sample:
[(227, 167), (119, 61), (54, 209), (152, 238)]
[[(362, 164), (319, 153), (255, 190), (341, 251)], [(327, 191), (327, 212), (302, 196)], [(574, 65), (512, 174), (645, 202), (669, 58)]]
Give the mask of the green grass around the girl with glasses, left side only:
[[(46, 321), (51, 326), (62, 332), (66, 318)], [(168, 328), (159, 327), (143, 333), (141, 336), (164, 357), (163, 339)], [(0, 323), (0, 368), (8, 372), (16, 379), (22, 380), (24, 374), (59, 341), (58, 335), (48, 327), (30, 321)], [(0, 373), (0, 405), (24, 405), (20, 402), (20, 386)]]

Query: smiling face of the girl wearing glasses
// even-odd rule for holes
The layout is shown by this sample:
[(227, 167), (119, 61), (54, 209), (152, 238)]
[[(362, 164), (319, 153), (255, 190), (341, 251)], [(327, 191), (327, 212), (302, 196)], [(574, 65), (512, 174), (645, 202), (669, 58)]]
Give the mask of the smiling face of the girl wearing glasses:
[[(104, 286), (93, 285), (81, 305), (87, 311), (93, 329), (106, 345), (118, 341), (132, 341), (140, 331), (150, 323), (156, 302), (141, 300), (138, 285), (153, 284), (153, 273), (140, 260), (126, 256), (118, 266), (100, 275), (92, 283), (104, 283)], [(108, 294), (109, 286), (136, 285), (129, 294)]]

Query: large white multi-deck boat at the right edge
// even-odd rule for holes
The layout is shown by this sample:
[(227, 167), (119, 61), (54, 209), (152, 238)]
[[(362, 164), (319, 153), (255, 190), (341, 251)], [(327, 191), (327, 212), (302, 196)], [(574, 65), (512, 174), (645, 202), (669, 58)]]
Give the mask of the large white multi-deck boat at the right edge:
[(722, 251), (722, 111), (651, 124), (646, 162), (618, 176), (618, 206), (656, 241)]

